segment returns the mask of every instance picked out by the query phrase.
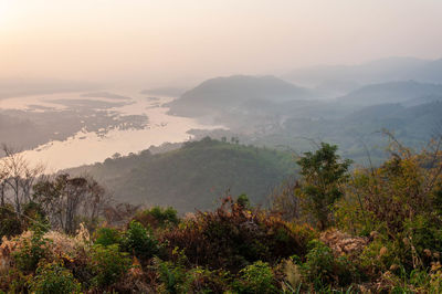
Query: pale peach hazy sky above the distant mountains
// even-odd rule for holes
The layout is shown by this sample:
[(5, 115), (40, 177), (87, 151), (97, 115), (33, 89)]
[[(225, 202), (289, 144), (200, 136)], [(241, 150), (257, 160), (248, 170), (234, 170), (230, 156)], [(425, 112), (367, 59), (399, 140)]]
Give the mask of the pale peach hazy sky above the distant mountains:
[(0, 0), (0, 76), (186, 83), (442, 57), (442, 0)]

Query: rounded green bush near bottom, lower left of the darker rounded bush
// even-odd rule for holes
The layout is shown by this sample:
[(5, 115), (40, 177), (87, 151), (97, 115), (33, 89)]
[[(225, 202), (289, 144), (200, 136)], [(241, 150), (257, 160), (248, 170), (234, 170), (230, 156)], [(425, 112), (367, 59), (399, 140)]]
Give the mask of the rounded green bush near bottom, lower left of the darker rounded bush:
[(120, 252), (118, 245), (94, 245), (91, 253), (91, 267), (98, 287), (110, 286), (123, 279), (130, 267), (127, 253)]

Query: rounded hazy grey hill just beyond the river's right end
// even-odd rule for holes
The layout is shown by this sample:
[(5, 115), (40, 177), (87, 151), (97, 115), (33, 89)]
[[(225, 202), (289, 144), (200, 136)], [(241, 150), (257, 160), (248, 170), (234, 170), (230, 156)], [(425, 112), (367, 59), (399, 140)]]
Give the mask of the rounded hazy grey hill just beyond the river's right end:
[(275, 76), (233, 75), (202, 82), (171, 102), (170, 113), (183, 116), (204, 116), (238, 108), (254, 101), (284, 102), (305, 99), (312, 94)]

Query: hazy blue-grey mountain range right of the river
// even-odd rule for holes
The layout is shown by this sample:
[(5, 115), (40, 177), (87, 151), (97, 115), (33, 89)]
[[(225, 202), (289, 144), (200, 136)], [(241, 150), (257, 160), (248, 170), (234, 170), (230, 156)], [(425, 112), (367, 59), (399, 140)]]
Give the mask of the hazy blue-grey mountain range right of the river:
[[(318, 69), (316, 77), (328, 74), (358, 80), (323, 83), (320, 90), (299, 87), (273, 76), (217, 77), (172, 102), (171, 113), (211, 116), (217, 124), (257, 146), (299, 150), (305, 147), (305, 138), (332, 141), (340, 146), (343, 155), (357, 161), (367, 156), (364, 141), (380, 162), (385, 153), (379, 146), (387, 144), (379, 134), (383, 128), (406, 145), (420, 148), (442, 126), (442, 84), (401, 80), (425, 74), (425, 78), (433, 76), (436, 81), (438, 64), (398, 57)], [(325, 92), (344, 94), (324, 101), (320, 95)]]

